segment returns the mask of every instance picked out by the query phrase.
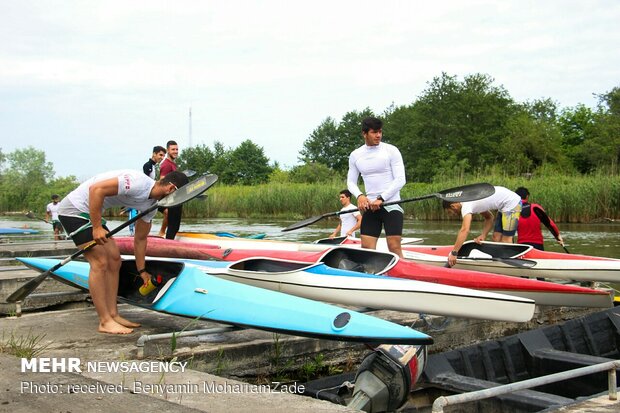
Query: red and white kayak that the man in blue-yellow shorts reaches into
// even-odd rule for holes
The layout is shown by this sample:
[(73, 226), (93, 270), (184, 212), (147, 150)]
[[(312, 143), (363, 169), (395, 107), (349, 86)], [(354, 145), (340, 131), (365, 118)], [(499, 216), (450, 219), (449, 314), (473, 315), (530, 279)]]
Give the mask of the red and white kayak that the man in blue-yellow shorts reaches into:
[[(403, 246), (403, 255), (411, 261), (443, 266), (451, 249), (451, 246), (407, 245)], [(514, 265), (517, 260), (532, 265)], [(459, 250), (456, 268), (513, 276), (620, 282), (619, 259), (540, 251), (524, 244), (467, 241)]]

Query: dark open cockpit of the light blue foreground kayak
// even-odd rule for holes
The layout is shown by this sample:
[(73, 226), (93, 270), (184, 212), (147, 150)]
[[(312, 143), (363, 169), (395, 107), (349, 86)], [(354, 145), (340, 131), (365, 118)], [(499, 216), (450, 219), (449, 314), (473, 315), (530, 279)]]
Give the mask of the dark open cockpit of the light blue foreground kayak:
[(139, 291), (143, 282), (138, 275), (136, 261), (123, 260), (118, 284), (118, 297), (141, 306), (151, 305), (170, 288), (184, 266), (180, 262), (147, 260), (146, 270), (156, 277), (158, 282), (155, 289), (144, 296)]

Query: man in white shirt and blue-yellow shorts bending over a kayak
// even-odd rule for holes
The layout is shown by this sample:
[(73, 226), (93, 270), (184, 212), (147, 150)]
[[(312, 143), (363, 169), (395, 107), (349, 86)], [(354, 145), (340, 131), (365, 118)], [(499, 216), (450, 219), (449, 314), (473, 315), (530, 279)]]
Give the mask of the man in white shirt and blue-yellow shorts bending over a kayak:
[[(443, 208), (450, 215), (458, 216), (460, 214), (463, 218), (454, 247), (448, 255), (448, 264), (452, 267), (456, 264), (458, 251), (469, 235), (473, 214), (480, 214), (484, 217), (482, 234), (474, 238), (474, 241), (481, 243), (486, 239), (491, 228), (494, 228), (493, 241), (512, 243), (521, 215), (521, 197), (510, 189), (496, 186), (495, 193), (487, 198), (469, 202), (443, 201)], [(498, 211), (495, 225), (493, 225), (494, 220), (491, 213), (494, 210)]]

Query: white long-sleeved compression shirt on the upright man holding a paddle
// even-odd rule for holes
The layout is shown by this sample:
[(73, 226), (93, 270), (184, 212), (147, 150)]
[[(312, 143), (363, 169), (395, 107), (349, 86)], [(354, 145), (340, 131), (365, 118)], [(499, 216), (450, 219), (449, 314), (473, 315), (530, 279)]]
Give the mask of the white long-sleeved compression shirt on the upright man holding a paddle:
[(400, 189), (406, 182), (405, 164), (396, 146), (380, 142), (376, 146), (363, 145), (351, 152), (347, 187), (355, 197), (362, 194), (357, 185), (360, 175), (371, 201), (379, 195), (386, 202), (400, 200)]

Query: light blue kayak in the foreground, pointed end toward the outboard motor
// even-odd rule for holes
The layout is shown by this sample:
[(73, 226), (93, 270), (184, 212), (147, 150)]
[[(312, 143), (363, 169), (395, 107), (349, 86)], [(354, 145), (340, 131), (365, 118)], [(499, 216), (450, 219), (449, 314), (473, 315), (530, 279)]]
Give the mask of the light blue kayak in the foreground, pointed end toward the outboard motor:
[[(49, 258), (18, 259), (41, 272), (59, 263)], [(433, 342), (430, 336), (409, 327), (318, 301), (219, 279), (181, 262), (147, 260), (146, 268), (159, 282), (155, 290), (142, 296), (138, 291), (142, 279), (137, 276), (135, 260), (123, 260), (119, 301), (163, 313), (313, 338), (372, 344)], [(88, 263), (71, 261), (52, 276), (87, 290), (89, 270)]]

